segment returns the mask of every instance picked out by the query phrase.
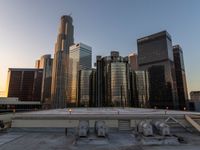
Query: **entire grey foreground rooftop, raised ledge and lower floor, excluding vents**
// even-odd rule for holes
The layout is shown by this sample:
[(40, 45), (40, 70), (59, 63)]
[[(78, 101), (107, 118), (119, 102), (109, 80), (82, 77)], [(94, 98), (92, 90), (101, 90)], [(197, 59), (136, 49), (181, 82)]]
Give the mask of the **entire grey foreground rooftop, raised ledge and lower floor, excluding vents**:
[[(0, 150), (200, 150), (200, 127), (194, 127), (185, 115), (200, 123), (198, 112), (141, 108), (65, 108), (7, 114), (4, 119), (11, 118), (11, 128), (0, 131)], [(89, 123), (87, 137), (78, 136), (80, 120)], [(95, 132), (97, 120), (105, 121), (105, 137)], [(170, 126), (170, 135), (154, 132), (144, 136), (138, 132), (141, 121), (156, 120)]]

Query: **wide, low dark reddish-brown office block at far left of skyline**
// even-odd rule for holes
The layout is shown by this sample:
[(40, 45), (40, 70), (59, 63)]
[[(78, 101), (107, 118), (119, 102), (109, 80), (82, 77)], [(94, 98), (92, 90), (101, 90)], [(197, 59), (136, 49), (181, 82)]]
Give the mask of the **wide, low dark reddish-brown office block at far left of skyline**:
[(7, 97), (21, 101), (40, 101), (43, 69), (9, 68)]

